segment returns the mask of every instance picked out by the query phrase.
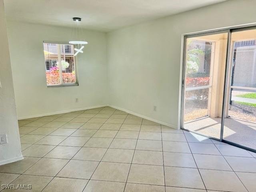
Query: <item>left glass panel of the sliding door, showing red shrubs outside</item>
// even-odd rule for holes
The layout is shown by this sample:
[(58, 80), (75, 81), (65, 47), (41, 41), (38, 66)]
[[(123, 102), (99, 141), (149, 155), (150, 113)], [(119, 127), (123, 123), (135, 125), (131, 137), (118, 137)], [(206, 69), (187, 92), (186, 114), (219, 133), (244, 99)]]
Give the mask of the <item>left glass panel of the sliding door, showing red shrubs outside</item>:
[(183, 128), (220, 139), (228, 32), (186, 37)]

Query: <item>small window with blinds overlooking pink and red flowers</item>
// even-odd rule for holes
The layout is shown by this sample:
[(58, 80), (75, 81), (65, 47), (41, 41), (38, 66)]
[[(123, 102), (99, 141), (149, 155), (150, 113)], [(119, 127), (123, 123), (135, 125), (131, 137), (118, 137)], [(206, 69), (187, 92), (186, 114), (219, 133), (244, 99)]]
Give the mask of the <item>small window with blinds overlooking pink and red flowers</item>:
[(74, 45), (44, 42), (47, 86), (78, 85)]

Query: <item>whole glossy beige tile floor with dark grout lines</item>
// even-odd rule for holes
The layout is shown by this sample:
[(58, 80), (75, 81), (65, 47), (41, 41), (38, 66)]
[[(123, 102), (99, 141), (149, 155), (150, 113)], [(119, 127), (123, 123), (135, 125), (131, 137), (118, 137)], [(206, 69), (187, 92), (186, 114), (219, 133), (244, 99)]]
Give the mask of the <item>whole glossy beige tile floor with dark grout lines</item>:
[(24, 160), (0, 166), (0, 184), (32, 185), (22, 191), (256, 191), (255, 153), (114, 108), (19, 126)]

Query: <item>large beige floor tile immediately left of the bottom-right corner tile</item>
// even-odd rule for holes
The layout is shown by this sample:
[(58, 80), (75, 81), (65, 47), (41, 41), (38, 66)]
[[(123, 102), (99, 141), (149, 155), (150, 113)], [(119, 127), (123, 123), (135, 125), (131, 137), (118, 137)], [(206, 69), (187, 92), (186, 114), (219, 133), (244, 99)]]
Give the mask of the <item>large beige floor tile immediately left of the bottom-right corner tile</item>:
[(231, 171), (199, 169), (207, 190), (246, 192), (246, 188)]

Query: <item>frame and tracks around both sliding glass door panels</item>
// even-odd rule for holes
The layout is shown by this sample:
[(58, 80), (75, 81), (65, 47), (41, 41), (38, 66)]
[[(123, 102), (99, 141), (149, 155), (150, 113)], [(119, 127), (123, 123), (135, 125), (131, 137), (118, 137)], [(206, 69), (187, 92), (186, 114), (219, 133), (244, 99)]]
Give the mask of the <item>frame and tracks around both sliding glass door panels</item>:
[[(243, 148), (245, 150), (249, 150), (252, 152), (256, 152), (256, 150), (252, 148), (248, 148), (246, 146), (242, 146), (240, 144), (230, 142), (228, 140), (223, 139), (223, 132), (224, 132), (224, 119), (225, 119), (225, 110), (226, 110), (226, 99), (227, 99), (227, 90), (228, 90), (228, 74), (229, 74), (229, 63), (230, 63), (230, 51), (231, 51), (231, 34), (232, 32), (244, 31), (244, 30), (251, 30), (256, 29), (256, 24), (249, 24), (243, 26), (235, 26), (229, 28), (222, 28), (217, 30), (208, 30), (202, 32), (195, 32), (190, 34), (184, 34), (184, 44), (183, 44), (183, 60), (182, 60), (182, 87), (181, 87), (181, 110), (180, 110), (180, 128), (192, 133), (199, 134), (201, 136), (205, 136), (214, 140), (218, 140), (220, 142), (224, 142), (239, 148)], [(213, 35), (213, 34), (220, 34), (220, 33), (228, 33), (227, 38), (227, 47), (226, 47), (226, 64), (225, 64), (225, 77), (224, 77), (224, 90), (223, 90), (223, 100), (222, 100), (222, 117), (221, 117), (221, 127), (220, 127), (220, 139), (214, 138), (212, 136), (200, 134), (196, 131), (188, 130), (184, 128), (184, 104), (185, 104), (185, 76), (186, 76), (186, 42), (188, 38), (198, 37), (198, 36), (206, 36), (206, 35)]]

